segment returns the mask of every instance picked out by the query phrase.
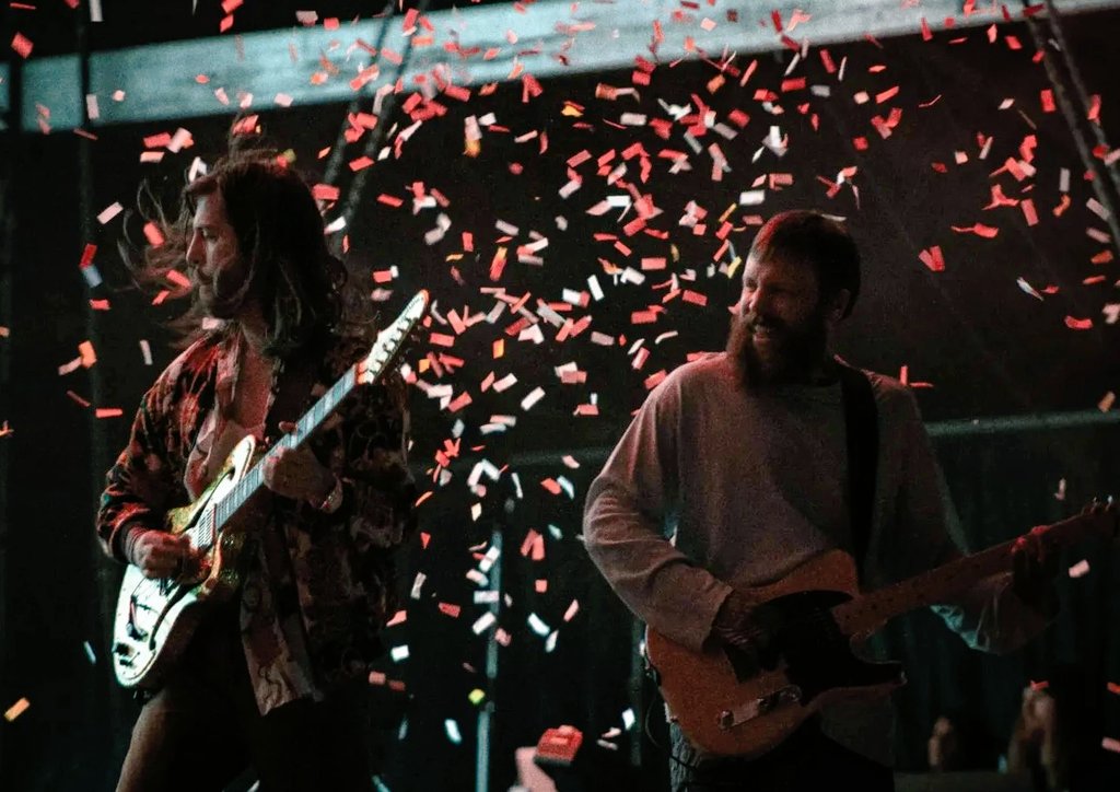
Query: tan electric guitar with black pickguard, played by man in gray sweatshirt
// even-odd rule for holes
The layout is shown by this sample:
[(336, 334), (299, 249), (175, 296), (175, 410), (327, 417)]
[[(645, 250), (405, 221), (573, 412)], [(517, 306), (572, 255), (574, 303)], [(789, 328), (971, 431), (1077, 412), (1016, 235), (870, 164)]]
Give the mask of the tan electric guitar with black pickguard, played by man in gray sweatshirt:
[[(1114, 535), (1114, 506), (1098, 506), (1047, 528), (1060, 543)], [(978, 580), (1011, 568), (1015, 541), (965, 556), (886, 588), (859, 594), (851, 557), (839, 550), (810, 559), (769, 586), (749, 589), (783, 615), (777, 647), (793, 647), (763, 668), (753, 654), (711, 647), (702, 653), (654, 630), (646, 652), (671, 716), (701, 751), (756, 757), (776, 747), (810, 715), (843, 699), (885, 695), (905, 682), (899, 663), (872, 663), (852, 652), (899, 614), (943, 603)]]

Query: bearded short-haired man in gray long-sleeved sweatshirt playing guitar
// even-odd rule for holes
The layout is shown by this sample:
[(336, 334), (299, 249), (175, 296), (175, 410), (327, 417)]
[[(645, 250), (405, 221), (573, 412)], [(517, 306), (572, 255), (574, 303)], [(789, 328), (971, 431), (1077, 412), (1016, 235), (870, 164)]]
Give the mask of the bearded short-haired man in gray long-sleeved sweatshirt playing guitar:
[[(749, 755), (706, 749), (681, 728), (683, 714), (670, 711), (674, 792), (815, 790), (841, 780), (894, 789), (889, 699), (822, 706), (830, 683), (812, 689), (830, 665), (843, 665), (849, 682), (861, 673), (828, 617), (834, 600), (759, 596), (820, 559), (847, 559), (855, 594), (857, 570), (866, 591), (961, 557), (914, 397), (830, 351), (859, 293), (859, 270), (856, 243), (834, 220), (795, 211), (767, 222), (747, 258), (726, 352), (680, 366), (654, 389), (588, 491), (588, 552), (651, 635), (697, 658), (726, 655), (737, 673), (748, 669), (743, 678), (785, 669), (793, 680), (710, 717), (732, 734), (771, 710), (795, 712), (795, 728)], [(970, 581), (934, 606), (976, 649), (1010, 651), (1055, 615), (1057, 559), (1045, 532), (1021, 538), (1011, 558), (1012, 571)], [(828, 587), (808, 577), (795, 588)], [(825, 624), (819, 635), (791, 628), (813, 618)], [(682, 698), (687, 709), (691, 696)]]

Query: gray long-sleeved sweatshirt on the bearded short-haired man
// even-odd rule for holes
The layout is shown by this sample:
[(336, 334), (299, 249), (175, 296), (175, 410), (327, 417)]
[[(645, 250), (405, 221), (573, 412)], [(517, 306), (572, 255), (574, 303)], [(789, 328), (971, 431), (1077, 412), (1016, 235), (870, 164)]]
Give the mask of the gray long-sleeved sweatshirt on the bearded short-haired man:
[[(961, 555), (913, 395), (869, 376), (879, 462), (865, 590)], [(591, 483), (588, 552), (634, 614), (700, 651), (731, 587), (769, 584), (825, 550), (850, 549), (847, 456), (839, 384), (748, 392), (726, 353), (687, 363), (650, 394)], [(1010, 574), (934, 609), (991, 652), (1045, 625), (1014, 595)], [(832, 739), (892, 763), (888, 699), (827, 707), (822, 719)]]

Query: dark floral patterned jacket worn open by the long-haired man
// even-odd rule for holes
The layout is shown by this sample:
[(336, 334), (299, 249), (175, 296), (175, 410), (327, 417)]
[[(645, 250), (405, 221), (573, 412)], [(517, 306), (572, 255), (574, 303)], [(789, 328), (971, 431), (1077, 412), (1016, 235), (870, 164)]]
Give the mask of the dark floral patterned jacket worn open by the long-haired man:
[[(128, 560), (132, 528), (162, 529), (168, 510), (192, 503), (222, 466), (225, 456), (215, 451), (248, 434), (230, 418), (242, 343), (231, 326), (211, 330), (144, 394), (96, 516), (113, 558)], [(315, 385), (289, 420), (367, 351), (364, 342), (334, 338), (314, 357)], [(283, 367), (278, 361), (273, 369), (270, 410)], [(253, 434), (262, 439), (260, 428)], [(355, 388), (307, 442), (342, 479), (343, 502), (327, 514), (270, 494), (271, 515), (246, 553), (241, 630), (262, 714), (298, 698), (320, 699), (381, 653), (379, 633), (395, 609), (393, 551), (413, 525), (399, 381)]]

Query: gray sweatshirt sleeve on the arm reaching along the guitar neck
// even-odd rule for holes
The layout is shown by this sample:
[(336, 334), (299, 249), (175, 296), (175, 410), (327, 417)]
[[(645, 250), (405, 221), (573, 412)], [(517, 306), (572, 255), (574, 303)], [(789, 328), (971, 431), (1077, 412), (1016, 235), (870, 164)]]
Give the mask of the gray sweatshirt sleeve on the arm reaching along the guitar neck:
[[(963, 555), (946, 531), (948, 499), (941, 492), (942, 474), (917, 404), (911, 393), (900, 395), (896, 408), (902, 413), (905, 441), (895, 520), (898, 541), (890, 570), (895, 579), (940, 567)], [(1016, 596), (1010, 571), (982, 578), (932, 609), (969, 646), (993, 653), (1018, 649), (1048, 623), (1046, 615)]]

